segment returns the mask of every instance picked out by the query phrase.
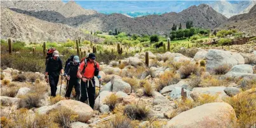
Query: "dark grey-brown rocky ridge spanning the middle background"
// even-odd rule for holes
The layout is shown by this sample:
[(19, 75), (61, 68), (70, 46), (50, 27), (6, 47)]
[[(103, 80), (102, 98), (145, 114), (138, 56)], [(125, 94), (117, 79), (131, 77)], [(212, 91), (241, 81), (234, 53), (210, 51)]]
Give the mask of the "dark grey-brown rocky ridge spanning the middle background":
[[(70, 2), (71, 3), (71, 2)], [(76, 3), (72, 2), (73, 6)], [(180, 13), (165, 13), (163, 15), (148, 15), (138, 18), (129, 18), (125, 15), (114, 13), (111, 15), (104, 15), (97, 13), (94, 15), (79, 15), (75, 17), (64, 16), (63, 13), (59, 13), (54, 10), (33, 11), (29, 9), (12, 9), (18, 13), (24, 13), (26, 15), (34, 16), (41, 20), (51, 21), (54, 23), (64, 23), (76, 28), (83, 28), (86, 30), (100, 30), (102, 32), (108, 32), (117, 28), (121, 32), (137, 33), (137, 34), (156, 34), (170, 32), (173, 23), (179, 25), (182, 23), (183, 28), (185, 22), (192, 20), (194, 26), (202, 28), (215, 28), (221, 23), (224, 23), (227, 18), (220, 13), (217, 13), (214, 9), (206, 4), (200, 4), (199, 6), (191, 6), (184, 9)], [(65, 10), (65, 9), (64, 9)]]

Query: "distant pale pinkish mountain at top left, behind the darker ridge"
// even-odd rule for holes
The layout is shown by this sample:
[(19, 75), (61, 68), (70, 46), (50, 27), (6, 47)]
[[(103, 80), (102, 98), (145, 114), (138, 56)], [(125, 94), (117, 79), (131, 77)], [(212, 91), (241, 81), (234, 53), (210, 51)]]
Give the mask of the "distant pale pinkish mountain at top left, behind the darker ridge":
[(74, 1), (63, 3), (57, 1), (1, 1), (1, 7), (15, 8), (24, 11), (55, 11), (65, 16), (66, 18), (79, 15), (93, 15), (97, 11), (84, 9), (77, 5)]

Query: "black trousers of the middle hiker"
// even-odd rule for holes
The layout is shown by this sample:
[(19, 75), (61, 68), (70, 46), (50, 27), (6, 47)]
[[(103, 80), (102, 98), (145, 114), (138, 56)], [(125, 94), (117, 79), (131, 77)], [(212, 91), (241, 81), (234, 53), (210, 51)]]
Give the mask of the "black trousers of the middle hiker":
[(70, 97), (71, 96), (71, 92), (72, 92), (72, 89), (73, 89), (73, 86), (75, 88), (75, 91), (76, 91), (76, 100), (79, 100), (79, 97), (80, 97), (80, 84), (79, 84), (79, 79), (77, 78), (71, 78), (69, 79), (69, 82), (68, 82), (68, 86), (67, 86), (67, 91), (66, 91), (66, 94), (65, 94), (65, 97)]

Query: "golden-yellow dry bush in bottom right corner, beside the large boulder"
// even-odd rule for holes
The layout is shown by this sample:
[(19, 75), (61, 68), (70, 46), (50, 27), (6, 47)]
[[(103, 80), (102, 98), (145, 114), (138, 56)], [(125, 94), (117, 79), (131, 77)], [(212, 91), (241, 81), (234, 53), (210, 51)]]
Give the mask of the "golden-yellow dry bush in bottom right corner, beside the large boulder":
[(255, 127), (256, 124), (256, 91), (252, 90), (239, 93), (236, 96), (226, 98), (225, 102), (229, 103), (236, 112), (238, 118), (237, 127)]

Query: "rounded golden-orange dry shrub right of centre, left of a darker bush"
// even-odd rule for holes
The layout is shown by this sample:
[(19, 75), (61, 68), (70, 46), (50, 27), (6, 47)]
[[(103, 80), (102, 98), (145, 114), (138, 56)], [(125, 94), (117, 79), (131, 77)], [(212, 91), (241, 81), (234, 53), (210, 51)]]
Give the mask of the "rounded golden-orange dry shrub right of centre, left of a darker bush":
[(159, 76), (159, 81), (156, 83), (156, 90), (160, 91), (165, 86), (170, 84), (177, 84), (180, 81), (179, 74), (175, 74), (172, 71), (166, 71), (165, 73)]

